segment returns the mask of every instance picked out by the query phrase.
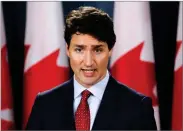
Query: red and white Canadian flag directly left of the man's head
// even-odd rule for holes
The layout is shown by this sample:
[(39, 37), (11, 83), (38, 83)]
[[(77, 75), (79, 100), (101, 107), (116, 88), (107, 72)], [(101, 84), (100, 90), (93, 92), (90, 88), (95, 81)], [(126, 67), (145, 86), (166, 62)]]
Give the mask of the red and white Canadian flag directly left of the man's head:
[(27, 2), (23, 127), (36, 95), (68, 79), (63, 38), (61, 2)]

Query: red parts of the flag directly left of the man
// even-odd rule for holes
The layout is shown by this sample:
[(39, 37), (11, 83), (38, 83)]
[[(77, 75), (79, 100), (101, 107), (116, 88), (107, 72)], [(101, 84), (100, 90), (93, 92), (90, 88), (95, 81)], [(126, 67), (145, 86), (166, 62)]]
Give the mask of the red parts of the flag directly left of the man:
[[(25, 56), (29, 46), (25, 46)], [(57, 65), (59, 49), (30, 67), (24, 73), (24, 127), (39, 92), (54, 88), (68, 80), (69, 68)]]

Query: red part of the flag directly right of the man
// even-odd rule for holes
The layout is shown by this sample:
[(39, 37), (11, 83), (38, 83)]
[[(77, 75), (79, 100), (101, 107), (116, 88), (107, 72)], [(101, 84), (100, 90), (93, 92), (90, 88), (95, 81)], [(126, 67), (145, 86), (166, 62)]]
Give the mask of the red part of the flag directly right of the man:
[(154, 63), (140, 60), (143, 45), (144, 42), (121, 56), (112, 66), (111, 73), (121, 83), (150, 96), (153, 105), (157, 105), (157, 98), (153, 93), (156, 85)]

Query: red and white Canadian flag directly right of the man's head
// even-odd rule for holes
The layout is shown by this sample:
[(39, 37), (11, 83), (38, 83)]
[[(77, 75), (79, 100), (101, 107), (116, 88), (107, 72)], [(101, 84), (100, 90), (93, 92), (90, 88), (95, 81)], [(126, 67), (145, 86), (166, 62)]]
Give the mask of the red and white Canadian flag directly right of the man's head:
[(115, 2), (114, 30), (117, 38), (110, 61), (111, 74), (152, 98), (160, 130), (149, 3)]

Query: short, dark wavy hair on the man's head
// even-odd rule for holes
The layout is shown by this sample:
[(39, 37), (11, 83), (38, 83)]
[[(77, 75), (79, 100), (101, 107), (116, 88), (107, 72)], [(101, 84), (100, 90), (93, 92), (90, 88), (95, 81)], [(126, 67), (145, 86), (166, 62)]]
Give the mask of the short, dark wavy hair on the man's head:
[(67, 15), (64, 38), (68, 46), (72, 35), (77, 33), (89, 34), (99, 41), (106, 42), (109, 50), (116, 42), (112, 19), (95, 7), (79, 7)]

